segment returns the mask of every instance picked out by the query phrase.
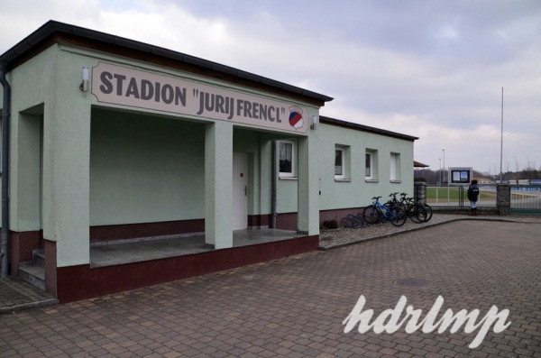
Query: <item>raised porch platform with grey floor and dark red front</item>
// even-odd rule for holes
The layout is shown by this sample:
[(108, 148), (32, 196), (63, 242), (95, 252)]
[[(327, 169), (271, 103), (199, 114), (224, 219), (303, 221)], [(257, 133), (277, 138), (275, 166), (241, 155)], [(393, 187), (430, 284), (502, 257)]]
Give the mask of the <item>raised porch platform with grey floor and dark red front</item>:
[(282, 230), (234, 232), (234, 246), (215, 250), (204, 235), (90, 247), (90, 264), (57, 270), (57, 297), (66, 303), (230, 270), (316, 250), (319, 236)]

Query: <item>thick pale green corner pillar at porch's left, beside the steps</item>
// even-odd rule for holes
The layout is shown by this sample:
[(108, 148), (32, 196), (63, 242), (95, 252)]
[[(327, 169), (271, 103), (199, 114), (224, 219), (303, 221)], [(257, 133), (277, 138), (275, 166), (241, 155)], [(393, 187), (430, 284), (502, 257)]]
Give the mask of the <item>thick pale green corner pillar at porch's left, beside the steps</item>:
[(56, 243), (57, 267), (90, 262), (91, 95), (65, 81), (73, 86), (51, 91), (43, 118), (43, 237)]

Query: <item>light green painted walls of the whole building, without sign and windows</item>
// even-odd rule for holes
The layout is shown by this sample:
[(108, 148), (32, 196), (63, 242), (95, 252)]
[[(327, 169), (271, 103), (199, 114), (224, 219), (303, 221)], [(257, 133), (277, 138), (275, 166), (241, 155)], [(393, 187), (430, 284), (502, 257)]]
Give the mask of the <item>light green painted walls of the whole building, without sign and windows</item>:
[[(43, 229), (47, 240), (57, 242), (59, 267), (89, 262), (90, 225), (199, 219), (206, 216), (209, 205), (205, 151), (208, 125), (213, 121), (139, 108), (128, 111), (116, 105), (97, 106), (96, 96), (81, 92), (78, 86), (82, 67), (92, 68), (100, 60), (179, 75), (173, 69), (66, 45), (51, 46), (8, 75), (13, 89), (11, 229)], [(246, 91), (234, 84), (184, 75)], [(307, 120), (318, 113), (316, 107), (308, 109)], [(248, 154), (249, 215), (271, 213), (271, 141), (278, 139), (298, 139), (296, 166), (303, 177), (300, 181), (278, 180), (278, 212), (297, 212), (299, 208), (299, 227), (310, 234), (317, 231), (314, 213), (318, 209), (361, 207), (374, 195), (386, 197), (391, 191), (413, 190), (413, 142), (329, 124), (309, 130), (308, 139), (304, 134), (252, 129), (242, 124), (219, 126), (227, 132), (215, 134), (218, 144), (227, 135), (230, 154), (231, 150)], [(347, 182), (335, 181), (335, 145), (348, 148)], [(367, 148), (379, 151), (377, 182), (364, 179)], [(391, 152), (400, 153), (400, 183), (390, 182)], [(229, 165), (220, 161), (212, 167), (225, 172)], [(220, 178), (216, 175), (215, 179)], [(302, 181), (305, 179), (308, 181)], [(231, 178), (227, 181), (215, 197), (220, 210), (230, 210), (231, 203), (225, 202), (225, 184), (230, 185)], [(207, 188), (212, 187), (207, 184)]]

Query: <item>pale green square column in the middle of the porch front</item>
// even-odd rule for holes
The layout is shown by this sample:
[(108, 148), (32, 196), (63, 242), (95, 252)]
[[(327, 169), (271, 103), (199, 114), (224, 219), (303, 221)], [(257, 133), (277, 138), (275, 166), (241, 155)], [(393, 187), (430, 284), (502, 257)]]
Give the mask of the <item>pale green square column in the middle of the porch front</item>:
[(233, 247), (233, 125), (206, 124), (205, 242)]

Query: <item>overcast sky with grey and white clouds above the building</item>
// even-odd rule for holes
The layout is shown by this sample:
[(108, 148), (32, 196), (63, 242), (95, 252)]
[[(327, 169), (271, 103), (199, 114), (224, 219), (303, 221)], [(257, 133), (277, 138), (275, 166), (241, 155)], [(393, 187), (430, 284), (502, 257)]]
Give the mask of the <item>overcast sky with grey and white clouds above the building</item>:
[[(0, 53), (56, 20), (332, 96), (438, 170), (541, 167), (539, 0), (3, 0)], [(443, 151), (445, 150), (445, 151)]]

